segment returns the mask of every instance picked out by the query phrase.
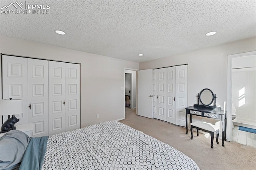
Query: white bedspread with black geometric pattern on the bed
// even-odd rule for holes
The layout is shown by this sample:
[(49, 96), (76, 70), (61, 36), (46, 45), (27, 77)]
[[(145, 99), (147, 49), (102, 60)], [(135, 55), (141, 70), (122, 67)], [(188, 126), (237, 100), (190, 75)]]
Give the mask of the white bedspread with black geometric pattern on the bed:
[(117, 121), (51, 135), (42, 170), (199, 169), (172, 146)]

